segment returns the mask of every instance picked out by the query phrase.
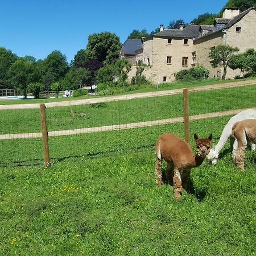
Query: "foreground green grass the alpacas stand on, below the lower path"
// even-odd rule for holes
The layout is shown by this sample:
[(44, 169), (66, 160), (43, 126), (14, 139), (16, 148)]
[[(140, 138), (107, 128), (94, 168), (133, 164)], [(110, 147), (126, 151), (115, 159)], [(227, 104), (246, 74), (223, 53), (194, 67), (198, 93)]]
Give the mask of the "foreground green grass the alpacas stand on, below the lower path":
[[(218, 141), (230, 117), (191, 122)], [(154, 144), (183, 124), (0, 141), (0, 255), (255, 255), (256, 152), (246, 172), (228, 144), (191, 172), (181, 201), (155, 184)]]

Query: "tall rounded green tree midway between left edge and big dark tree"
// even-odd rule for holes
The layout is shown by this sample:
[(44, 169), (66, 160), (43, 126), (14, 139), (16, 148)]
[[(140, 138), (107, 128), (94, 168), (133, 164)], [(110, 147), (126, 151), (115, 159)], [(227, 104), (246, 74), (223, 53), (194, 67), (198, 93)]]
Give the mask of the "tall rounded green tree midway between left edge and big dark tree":
[(43, 61), (42, 81), (46, 90), (51, 88), (53, 82), (60, 81), (68, 72), (67, 57), (60, 51), (51, 52)]

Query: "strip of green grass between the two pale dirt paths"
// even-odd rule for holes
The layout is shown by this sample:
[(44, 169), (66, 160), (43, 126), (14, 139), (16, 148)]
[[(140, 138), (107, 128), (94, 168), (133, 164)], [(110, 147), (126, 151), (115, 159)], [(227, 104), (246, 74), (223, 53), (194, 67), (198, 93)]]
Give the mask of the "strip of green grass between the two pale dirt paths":
[[(253, 108), (256, 85), (189, 94), (189, 114)], [(71, 110), (75, 113), (73, 118)], [(49, 131), (79, 129), (183, 116), (183, 95), (114, 101), (96, 108), (91, 105), (47, 108)], [(0, 134), (39, 132), (39, 109), (1, 110)]]

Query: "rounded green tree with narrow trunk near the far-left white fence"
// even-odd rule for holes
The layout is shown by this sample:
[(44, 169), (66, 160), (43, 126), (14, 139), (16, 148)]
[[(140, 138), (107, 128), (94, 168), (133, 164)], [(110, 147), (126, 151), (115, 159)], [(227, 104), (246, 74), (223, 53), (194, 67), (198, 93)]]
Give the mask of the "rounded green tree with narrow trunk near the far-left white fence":
[(30, 62), (20, 59), (16, 60), (9, 69), (10, 81), (20, 88), (25, 98), (27, 98), (27, 86), (37, 79), (35, 67)]

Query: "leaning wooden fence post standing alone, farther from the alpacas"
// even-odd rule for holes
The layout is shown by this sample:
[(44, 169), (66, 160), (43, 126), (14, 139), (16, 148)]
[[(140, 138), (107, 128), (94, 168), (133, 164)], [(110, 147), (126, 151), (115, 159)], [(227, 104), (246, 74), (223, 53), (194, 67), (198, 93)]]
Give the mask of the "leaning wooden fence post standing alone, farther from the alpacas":
[(49, 160), (49, 145), (48, 145), (48, 131), (46, 125), (46, 105), (40, 104), (40, 115), (43, 135), (43, 147), (44, 147), (44, 163), (46, 168), (51, 166)]

